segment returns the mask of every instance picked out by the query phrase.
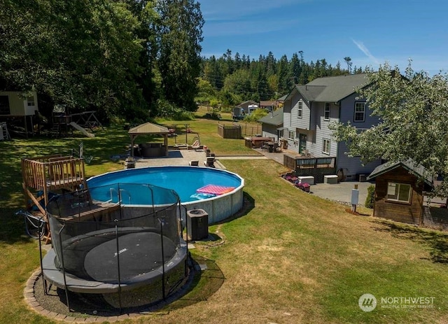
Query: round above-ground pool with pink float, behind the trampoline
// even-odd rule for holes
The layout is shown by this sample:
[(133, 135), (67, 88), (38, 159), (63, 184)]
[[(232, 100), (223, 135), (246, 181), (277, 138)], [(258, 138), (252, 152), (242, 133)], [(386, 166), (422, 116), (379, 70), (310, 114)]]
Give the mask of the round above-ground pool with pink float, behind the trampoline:
[[(92, 198), (102, 202), (120, 200), (130, 208), (164, 204), (164, 197), (154, 194), (147, 184), (174, 190), (186, 209), (204, 209), (209, 223), (232, 216), (243, 205), (244, 179), (223, 169), (146, 167), (113, 171), (87, 180)], [(185, 211), (182, 213), (185, 216)]]

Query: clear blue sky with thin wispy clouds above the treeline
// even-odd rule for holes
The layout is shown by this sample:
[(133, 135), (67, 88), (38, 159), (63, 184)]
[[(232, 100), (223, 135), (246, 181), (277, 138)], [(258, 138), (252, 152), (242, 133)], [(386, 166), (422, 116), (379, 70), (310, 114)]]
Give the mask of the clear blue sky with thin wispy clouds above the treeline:
[(305, 62), (448, 72), (446, 0), (198, 0), (205, 20), (202, 56), (276, 59), (303, 51)]

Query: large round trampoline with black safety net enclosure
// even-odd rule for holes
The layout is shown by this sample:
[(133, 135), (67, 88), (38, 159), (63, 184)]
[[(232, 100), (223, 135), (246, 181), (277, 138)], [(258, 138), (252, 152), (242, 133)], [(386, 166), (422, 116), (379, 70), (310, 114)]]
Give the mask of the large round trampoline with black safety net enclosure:
[(74, 293), (121, 293), (158, 281), (161, 292), (155, 295), (173, 293), (188, 274), (180, 200), (173, 190), (148, 188), (148, 199), (157, 196), (162, 204), (125, 208), (92, 200), (90, 190), (52, 199), (52, 250), (43, 258), (44, 279)]

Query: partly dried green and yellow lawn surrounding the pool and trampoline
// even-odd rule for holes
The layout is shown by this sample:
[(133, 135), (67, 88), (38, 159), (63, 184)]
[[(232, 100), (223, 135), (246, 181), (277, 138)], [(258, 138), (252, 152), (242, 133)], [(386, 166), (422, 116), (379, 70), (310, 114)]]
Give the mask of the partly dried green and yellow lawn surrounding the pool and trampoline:
[[(242, 139), (219, 138), (217, 122), (188, 123), (217, 154), (251, 153)], [(85, 155), (93, 156), (88, 176), (122, 169), (111, 157), (125, 154), (123, 127), (95, 135), (0, 142), (0, 323), (54, 323), (22, 297), (39, 262), (36, 241), (23, 235), (14, 215), (24, 206), (20, 157), (67, 153), (83, 141)], [(195, 244), (195, 259), (209, 269), (188, 295), (129, 323), (446, 323), (448, 233), (353, 216), (346, 206), (293, 188), (279, 177), (286, 169), (270, 160), (222, 163), (245, 179), (248, 206), (210, 227), (220, 240)], [(374, 311), (358, 307), (365, 293), (377, 297)], [(432, 297), (433, 308), (381, 302), (391, 297)]]

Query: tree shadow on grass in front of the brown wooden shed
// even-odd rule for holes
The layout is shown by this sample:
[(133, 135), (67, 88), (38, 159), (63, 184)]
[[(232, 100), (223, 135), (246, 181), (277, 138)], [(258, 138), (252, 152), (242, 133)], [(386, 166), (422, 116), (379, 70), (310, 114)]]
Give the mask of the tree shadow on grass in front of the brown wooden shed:
[(375, 230), (390, 232), (398, 239), (415, 241), (428, 246), (431, 261), (448, 265), (448, 234), (386, 220), (374, 220), (374, 223), (383, 225)]

